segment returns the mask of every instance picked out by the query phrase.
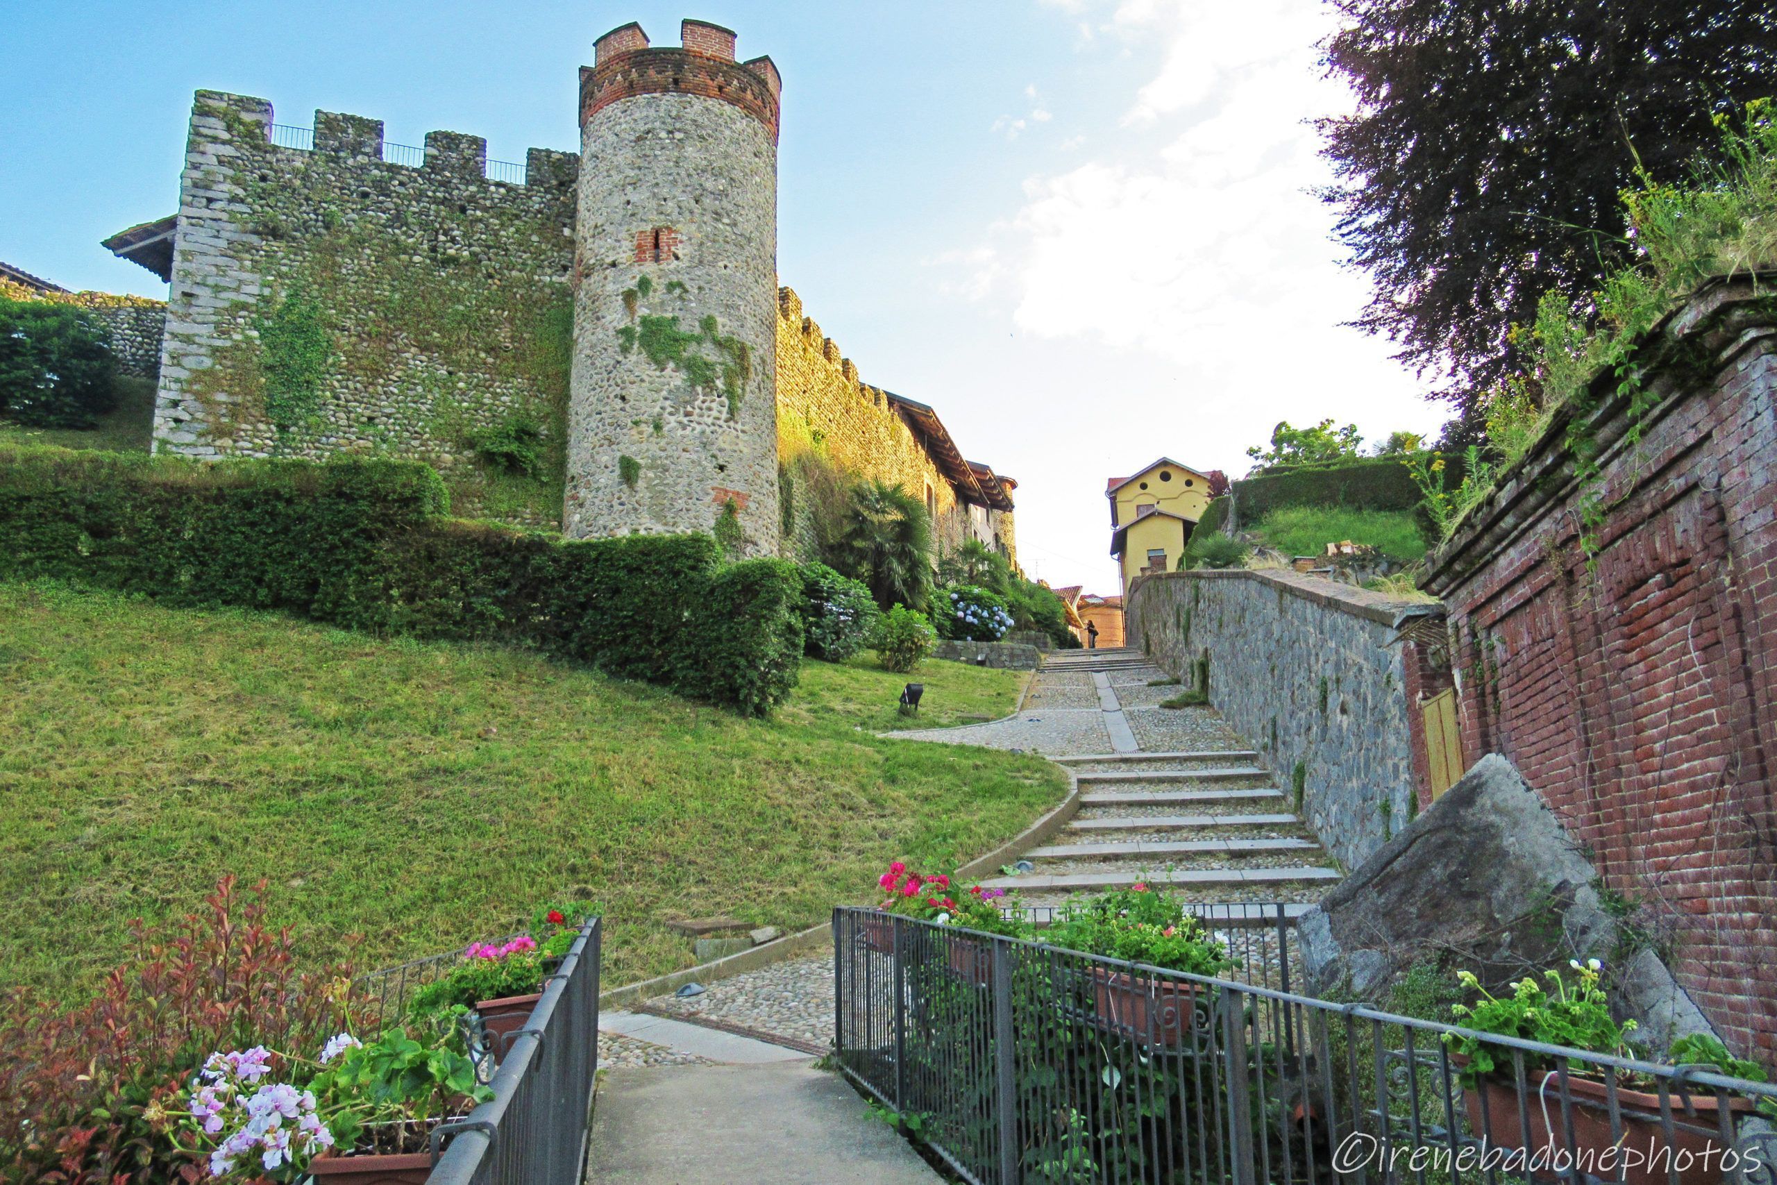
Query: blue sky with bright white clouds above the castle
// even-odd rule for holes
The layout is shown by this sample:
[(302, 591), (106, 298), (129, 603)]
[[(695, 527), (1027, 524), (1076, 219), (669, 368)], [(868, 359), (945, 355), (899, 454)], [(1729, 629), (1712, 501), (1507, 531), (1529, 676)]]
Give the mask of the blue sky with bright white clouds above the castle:
[(192, 91), (576, 147), (578, 66), (697, 16), (784, 73), (778, 272), (865, 382), (938, 409), (1015, 476), (1025, 567), (1114, 592), (1104, 480), (1159, 455), (1231, 474), (1278, 419), (1375, 439), (1441, 409), (1340, 327), (1308, 117), (1319, 0), (226, 4), (12, 0), (0, 259), (163, 297), (98, 240), (171, 213)]

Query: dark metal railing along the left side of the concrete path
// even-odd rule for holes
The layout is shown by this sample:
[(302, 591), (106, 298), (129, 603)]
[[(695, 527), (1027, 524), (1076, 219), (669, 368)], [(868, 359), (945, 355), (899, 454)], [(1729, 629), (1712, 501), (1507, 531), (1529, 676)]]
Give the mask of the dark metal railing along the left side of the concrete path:
[[(588, 919), (544, 981), (530, 1022), (494, 1050), (494, 1098), (432, 1132), (428, 1185), (576, 1185), (585, 1176), (592, 1086), (599, 1070), (599, 956), (602, 927)], [(446, 974), (462, 952), (402, 963), (361, 981), (382, 1016)]]

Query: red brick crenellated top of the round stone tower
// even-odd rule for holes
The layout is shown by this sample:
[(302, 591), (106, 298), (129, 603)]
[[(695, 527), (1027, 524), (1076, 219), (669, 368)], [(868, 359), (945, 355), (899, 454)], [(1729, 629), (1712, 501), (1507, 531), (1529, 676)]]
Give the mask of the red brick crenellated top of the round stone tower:
[(698, 94), (753, 115), (777, 139), (784, 80), (769, 57), (734, 60), (734, 30), (709, 21), (682, 21), (681, 48), (649, 44), (631, 21), (599, 37), (592, 66), (579, 69), (579, 123), (618, 99), (638, 94)]

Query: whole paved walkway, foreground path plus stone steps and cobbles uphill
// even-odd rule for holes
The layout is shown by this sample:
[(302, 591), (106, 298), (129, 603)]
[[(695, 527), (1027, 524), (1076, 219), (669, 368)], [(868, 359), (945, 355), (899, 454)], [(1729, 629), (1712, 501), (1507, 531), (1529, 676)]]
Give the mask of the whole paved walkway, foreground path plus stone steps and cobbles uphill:
[[(1217, 929), (1271, 924), (1256, 903), (1304, 911), (1340, 872), (1221, 716), (1160, 707), (1178, 693), (1139, 650), (1072, 650), (1048, 657), (1016, 716), (896, 736), (1036, 752), (1077, 771), (1079, 815), (1022, 853), (1029, 872), (983, 881), (1018, 890), (1038, 920), (1137, 879), (1231, 903), (1205, 910)], [(857, 1091), (812, 1068), (807, 1050), (833, 1039), (832, 954), (638, 1007), (601, 1018), (601, 1064), (618, 1070), (599, 1087), (595, 1185), (940, 1180)]]

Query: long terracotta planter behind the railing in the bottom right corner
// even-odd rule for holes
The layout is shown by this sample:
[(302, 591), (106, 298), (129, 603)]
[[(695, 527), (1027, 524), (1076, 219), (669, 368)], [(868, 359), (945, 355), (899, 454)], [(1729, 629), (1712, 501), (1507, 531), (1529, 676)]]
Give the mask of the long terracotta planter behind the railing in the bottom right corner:
[[(1452, 1057), (1455, 1064), (1466, 1064), (1466, 1057)], [(1530, 1173), (1539, 1180), (1567, 1178), (1567, 1137), (1562, 1126), (1560, 1078), (1550, 1078), (1544, 1089), (1546, 1071), (1525, 1075), (1525, 1109), (1530, 1114), (1530, 1133), (1526, 1137), (1518, 1116), (1518, 1089), (1510, 1077), (1487, 1075), (1475, 1086), (1462, 1087), (1462, 1105), (1468, 1110), (1470, 1128), (1477, 1135), (1487, 1132), (1487, 1142), (1496, 1148), (1521, 1148), (1534, 1165)], [(1482, 1123), (1482, 1096), (1487, 1101), (1487, 1126)], [(1605, 1084), (1594, 1078), (1578, 1078), (1569, 1073), (1567, 1098), (1573, 1110), (1573, 1148), (1582, 1157), (1580, 1167), (1592, 1176), (1624, 1185), (1667, 1185), (1672, 1178), (1667, 1165), (1681, 1165), (1679, 1185), (1713, 1185), (1724, 1180), (1722, 1173), (1722, 1137), (1720, 1107), (1715, 1094), (1692, 1093), (1690, 1100), (1697, 1114), (1688, 1114), (1677, 1093), (1669, 1093), (1672, 1107), (1672, 1141), (1665, 1139), (1660, 1125), (1660, 1096), (1644, 1091), (1617, 1087), (1617, 1114), (1622, 1117), (1622, 1153), (1610, 1153), (1615, 1141), (1610, 1137), (1610, 1103)], [(1544, 1101), (1548, 1103), (1548, 1123), (1542, 1121)], [(1743, 1114), (1752, 1110), (1752, 1101), (1745, 1098), (1727, 1100), (1729, 1110)], [(1679, 1125), (1709, 1128), (1709, 1133), (1692, 1132)], [(1729, 1119), (1733, 1130), (1733, 1119)], [(1667, 1151), (1670, 1149), (1670, 1153)], [(1635, 1153), (1640, 1164), (1626, 1165), (1624, 1155)], [(1681, 1153), (1690, 1153), (1686, 1162)], [(1605, 1157), (1612, 1155), (1610, 1160)], [(1558, 1160), (1557, 1160), (1558, 1157)], [(1706, 1158), (1708, 1157), (1708, 1158)], [(1590, 1160), (1587, 1160), (1590, 1158)], [(1653, 1164), (1649, 1164), (1653, 1158)], [(1516, 1171), (1507, 1162), (1502, 1169)]]

